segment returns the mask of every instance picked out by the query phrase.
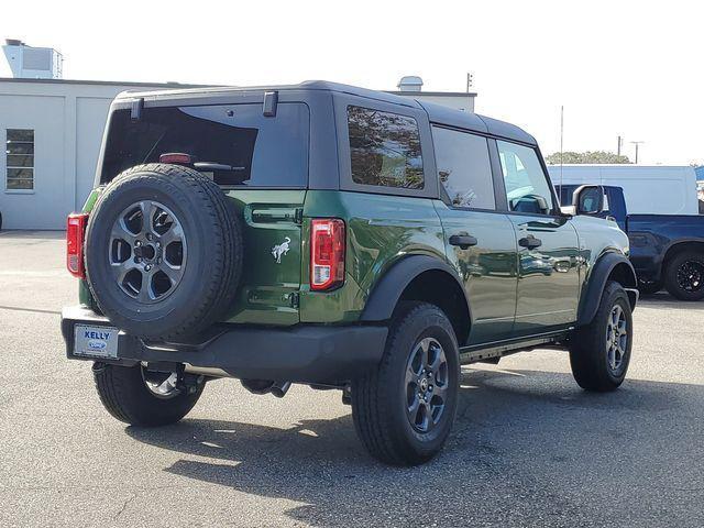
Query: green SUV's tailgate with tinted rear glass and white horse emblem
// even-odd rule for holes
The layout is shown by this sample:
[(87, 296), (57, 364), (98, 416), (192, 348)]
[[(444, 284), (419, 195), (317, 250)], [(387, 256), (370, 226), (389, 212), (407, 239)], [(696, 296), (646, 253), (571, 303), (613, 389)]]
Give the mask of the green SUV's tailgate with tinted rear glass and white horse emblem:
[(105, 183), (123, 169), (157, 163), (166, 153), (217, 183), (240, 213), (243, 274), (229, 320), (299, 321), (301, 219), (308, 185), (309, 108), (278, 102), (146, 106), (139, 120), (117, 110), (103, 155)]

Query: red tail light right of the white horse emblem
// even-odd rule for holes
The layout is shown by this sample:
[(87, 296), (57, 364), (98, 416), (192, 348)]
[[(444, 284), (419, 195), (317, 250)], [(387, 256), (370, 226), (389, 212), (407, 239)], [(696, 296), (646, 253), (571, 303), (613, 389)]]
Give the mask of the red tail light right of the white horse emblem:
[(315, 219), (310, 224), (310, 289), (332, 289), (344, 282), (344, 222)]

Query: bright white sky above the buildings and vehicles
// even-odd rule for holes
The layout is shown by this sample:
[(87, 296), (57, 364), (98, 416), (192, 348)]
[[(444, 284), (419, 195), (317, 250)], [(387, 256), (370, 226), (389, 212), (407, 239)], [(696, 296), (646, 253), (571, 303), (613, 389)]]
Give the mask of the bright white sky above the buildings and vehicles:
[[(55, 47), (69, 79), (262, 85), (327, 79), (463, 91), (544, 154), (645, 141), (640, 163), (704, 163), (704, 2), (36, 0), (0, 37)], [(10, 70), (0, 58), (0, 76)], [(1, 116), (0, 116), (1, 120)]]

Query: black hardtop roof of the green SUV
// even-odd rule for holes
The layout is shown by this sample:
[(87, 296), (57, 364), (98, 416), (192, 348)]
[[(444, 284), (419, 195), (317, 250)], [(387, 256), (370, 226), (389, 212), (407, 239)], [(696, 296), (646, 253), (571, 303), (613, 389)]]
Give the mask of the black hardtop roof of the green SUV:
[[(330, 82), (327, 80), (306, 80), (298, 85), (279, 85), (279, 86), (248, 86), (248, 87), (198, 87), (198, 88), (176, 88), (165, 90), (148, 90), (148, 91), (123, 91), (118, 95), (118, 99), (133, 99), (135, 97), (145, 98), (166, 98), (169, 96), (187, 96), (187, 95), (202, 95), (213, 96), (228, 92), (256, 92), (256, 91), (274, 91), (274, 90), (324, 90), (336, 91), (340, 94), (349, 94), (352, 96), (364, 97), (367, 99), (381, 100), (394, 105), (400, 105), (404, 107), (424, 109), (430, 121), (433, 123), (446, 124), (449, 127), (461, 128), (481, 133), (487, 133), (508, 140), (519, 141), (531, 145), (537, 145), (537, 142), (532, 135), (516, 127), (515, 124), (499, 121), (497, 119), (487, 118), (472, 112), (465, 112), (462, 110), (455, 110), (442, 105), (436, 105), (432, 102), (420, 101), (414, 99), (411, 96), (398, 96), (395, 94), (388, 94), (386, 91), (370, 90), (367, 88), (360, 88), (356, 86), (343, 85), (340, 82)], [(420, 92), (422, 95), (422, 92)]]

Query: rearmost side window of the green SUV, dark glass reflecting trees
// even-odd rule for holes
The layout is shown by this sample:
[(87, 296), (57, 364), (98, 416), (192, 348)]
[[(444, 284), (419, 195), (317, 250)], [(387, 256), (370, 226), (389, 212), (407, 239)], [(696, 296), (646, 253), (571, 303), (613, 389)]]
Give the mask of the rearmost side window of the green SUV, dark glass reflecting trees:
[(414, 118), (348, 107), (348, 127), (354, 183), (424, 188), (420, 133)]

